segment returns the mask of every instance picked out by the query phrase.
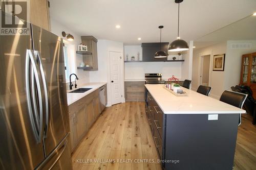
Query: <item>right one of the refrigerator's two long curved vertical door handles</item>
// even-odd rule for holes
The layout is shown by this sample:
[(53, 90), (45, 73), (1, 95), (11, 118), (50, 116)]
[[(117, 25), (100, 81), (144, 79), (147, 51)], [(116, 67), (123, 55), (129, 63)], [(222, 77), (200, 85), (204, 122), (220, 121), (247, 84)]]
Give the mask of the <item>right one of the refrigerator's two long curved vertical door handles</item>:
[(41, 73), (41, 77), (42, 77), (42, 84), (44, 86), (45, 110), (46, 110), (45, 111), (46, 112), (46, 133), (45, 133), (45, 136), (47, 137), (49, 122), (50, 122), (50, 115), (49, 115), (48, 90), (47, 90), (47, 84), (46, 84), (46, 76), (45, 76), (44, 68), (42, 67), (40, 52), (35, 51), (34, 53), (35, 53), (35, 56), (36, 56), (37, 61), (39, 63), (40, 73)]

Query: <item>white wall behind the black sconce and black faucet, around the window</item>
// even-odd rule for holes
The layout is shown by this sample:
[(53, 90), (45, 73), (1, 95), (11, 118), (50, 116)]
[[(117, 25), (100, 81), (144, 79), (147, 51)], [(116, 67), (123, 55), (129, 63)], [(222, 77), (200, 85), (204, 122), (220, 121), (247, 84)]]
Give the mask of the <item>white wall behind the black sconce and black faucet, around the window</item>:
[[(90, 75), (88, 71), (78, 70), (77, 66), (82, 61), (81, 55), (76, 55), (77, 45), (81, 43), (81, 37), (73, 32), (72, 30), (66, 28), (65, 26), (61, 25), (58, 21), (50, 18), (51, 22), (51, 32), (58, 35), (59, 37), (63, 38), (61, 35), (62, 31), (66, 33), (70, 33), (74, 36), (74, 41), (67, 41), (66, 38), (63, 38), (63, 42), (68, 44), (68, 63), (70, 68), (70, 74), (75, 73), (77, 74), (79, 80), (77, 81), (78, 85), (82, 85), (84, 83), (88, 83), (90, 80)], [(75, 77), (72, 78), (74, 81)], [(69, 80), (66, 80), (69, 82)]]

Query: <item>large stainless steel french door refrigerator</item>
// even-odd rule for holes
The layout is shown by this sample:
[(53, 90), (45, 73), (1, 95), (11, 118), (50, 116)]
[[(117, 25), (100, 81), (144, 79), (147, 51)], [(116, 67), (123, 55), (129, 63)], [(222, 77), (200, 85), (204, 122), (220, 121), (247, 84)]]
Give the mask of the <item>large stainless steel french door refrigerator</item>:
[(72, 169), (63, 42), (28, 24), (0, 35), (0, 169)]

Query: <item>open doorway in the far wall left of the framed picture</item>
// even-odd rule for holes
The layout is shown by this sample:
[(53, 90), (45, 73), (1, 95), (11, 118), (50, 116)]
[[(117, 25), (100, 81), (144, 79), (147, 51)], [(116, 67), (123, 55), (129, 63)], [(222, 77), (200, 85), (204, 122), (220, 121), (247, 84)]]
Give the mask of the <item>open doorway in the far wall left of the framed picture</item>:
[(210, 55), (201, 56), (201, 81), (200, 85), (209, 86), (209, 74), (210, 74)]

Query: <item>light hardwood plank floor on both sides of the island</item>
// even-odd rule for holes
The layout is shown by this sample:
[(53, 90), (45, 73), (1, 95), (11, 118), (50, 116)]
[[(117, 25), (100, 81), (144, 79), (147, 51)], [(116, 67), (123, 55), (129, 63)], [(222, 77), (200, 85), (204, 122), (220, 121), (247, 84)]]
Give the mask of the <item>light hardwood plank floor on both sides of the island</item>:
[[(256, 126), (251, 124), (250, 118), (243, 116), (243, 123), (239, 127), (236, 170), (256, 169)], [(159, 163), (135, 163), (138, 159), (158, 160), (144, 103), (126, 102), (106, 108), (81, 141), (72, 159), (74, 170), (161, 169)], [(118, 159), (133, 162), (121, 163), (117, 162)], [(106, 160), (115, 162), (104, 162)]]

